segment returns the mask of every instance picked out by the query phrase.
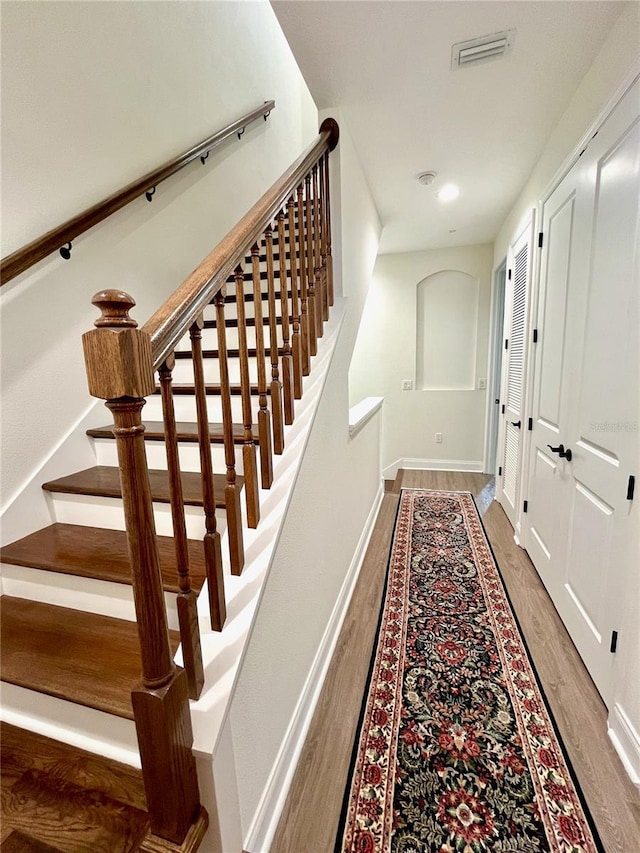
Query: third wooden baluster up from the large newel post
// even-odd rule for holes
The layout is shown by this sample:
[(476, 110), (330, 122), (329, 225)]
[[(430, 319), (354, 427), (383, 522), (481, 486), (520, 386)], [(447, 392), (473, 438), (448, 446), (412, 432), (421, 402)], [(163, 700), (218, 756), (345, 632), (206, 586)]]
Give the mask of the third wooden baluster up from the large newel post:
[(229, 557), (231, 560), (231, 574), (241, 575), (244, 568), (244, 543), (242, 537), (240, 489), (236, 480), (236, 446), (233, 440), (233, 414), (231, 411), (231, 388), (229, 384), (229, 362), (227, 359), (227, 327), (224, 318), (226, 290), (226, 285), (223, 285), (213, 297), (213, 303), (216, 307), (224, 459), (227, 466), (227, 485), (224, 490), (224, 502), (227, 510)]

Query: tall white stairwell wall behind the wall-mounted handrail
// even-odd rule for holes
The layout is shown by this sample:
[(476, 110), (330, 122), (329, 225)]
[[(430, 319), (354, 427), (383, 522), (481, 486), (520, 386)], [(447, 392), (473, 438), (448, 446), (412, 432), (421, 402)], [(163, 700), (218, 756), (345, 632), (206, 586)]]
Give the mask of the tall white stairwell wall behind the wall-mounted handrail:
[(92, 295), (129, 291), (143, 322), (318, 130), (266, 0), (3, 2), (3, 256), (271, 98), (268, 122), (2, 288), (3, 507), (90, 404)]

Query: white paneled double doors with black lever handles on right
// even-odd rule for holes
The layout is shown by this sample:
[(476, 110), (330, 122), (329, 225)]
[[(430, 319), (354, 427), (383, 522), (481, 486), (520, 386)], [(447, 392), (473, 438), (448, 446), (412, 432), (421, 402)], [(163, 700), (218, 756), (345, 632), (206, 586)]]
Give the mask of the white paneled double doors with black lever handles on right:
[(524, 516), (526, 548), (607, 704), (640, 466), (639, 94), (544, 205)]

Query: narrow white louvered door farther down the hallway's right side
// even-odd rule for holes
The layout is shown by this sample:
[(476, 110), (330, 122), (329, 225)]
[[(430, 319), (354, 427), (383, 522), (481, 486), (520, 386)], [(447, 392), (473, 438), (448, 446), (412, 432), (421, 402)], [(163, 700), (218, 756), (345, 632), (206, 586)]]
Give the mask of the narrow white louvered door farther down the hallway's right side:
[(505, 312), (505, 359), (501, 422), (502, 476), (497, 496), (511, 524), (516, 527), (522, 474), (522, 433), (525, 429), (525, 335), (531, 268), (532, 223), (512, 243), (507, 257), (507, 310)]

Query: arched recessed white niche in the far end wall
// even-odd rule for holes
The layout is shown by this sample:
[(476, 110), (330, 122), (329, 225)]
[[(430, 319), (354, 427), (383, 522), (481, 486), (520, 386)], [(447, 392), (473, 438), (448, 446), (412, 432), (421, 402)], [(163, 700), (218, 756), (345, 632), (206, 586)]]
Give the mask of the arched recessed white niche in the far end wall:
[(440, 270), (416, 288), (416, 388), (473, 391), (480, 282)]

